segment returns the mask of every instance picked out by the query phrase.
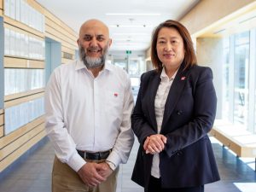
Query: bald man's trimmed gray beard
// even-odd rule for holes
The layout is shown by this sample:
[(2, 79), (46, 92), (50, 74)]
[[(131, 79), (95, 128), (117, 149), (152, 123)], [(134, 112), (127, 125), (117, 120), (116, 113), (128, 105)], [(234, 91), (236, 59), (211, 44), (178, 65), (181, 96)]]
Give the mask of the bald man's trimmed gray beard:
[(84, 62), (84, 65), (88, 69), (102, 67), (105, 64), (106, 57), (108, 55), (108, 47), (106, 49), (104, 49), (103, 51), (104, 51), (104, 54), (99, 58), (90, 57), (90, 56), (86, 56), (85, 52), (84, 52), (84, 48), (81, 45), (79, 46), (80, 59), (81, 59), (81, 61)]

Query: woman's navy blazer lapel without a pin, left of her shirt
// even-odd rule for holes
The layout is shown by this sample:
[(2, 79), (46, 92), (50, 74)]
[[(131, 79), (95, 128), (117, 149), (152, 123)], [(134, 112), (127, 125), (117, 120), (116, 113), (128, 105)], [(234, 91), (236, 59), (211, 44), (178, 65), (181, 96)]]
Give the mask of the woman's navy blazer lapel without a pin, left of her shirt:
[(150, 80), (150, 96), (148, 101), (148, 113), (149, 117), (151, 119), (152, 125), (154, 126), (154, 130), (157, 131), (157, 124), (155, 119), (155, 113), (154, 113), (154, 98), (156, 95), (156, 91), (158, 89), (158, 86), (160, 84), (160, 73), (157, 73), (156, 75), (152, 75)]

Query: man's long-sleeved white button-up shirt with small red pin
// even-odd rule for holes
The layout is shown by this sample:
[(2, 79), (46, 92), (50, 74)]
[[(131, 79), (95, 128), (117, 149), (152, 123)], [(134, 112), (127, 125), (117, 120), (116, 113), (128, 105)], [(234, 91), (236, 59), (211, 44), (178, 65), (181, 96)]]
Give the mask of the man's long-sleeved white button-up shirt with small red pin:
[(105, 64), (96, 78), (82, 61), (57, 67), (45, 91), (45, 129), (55, 154), (75, 172), (84, 166), (77, 149), (112, 148), (108, 161), (128, 160), (134, 142), (131, 81), (125, 71)]

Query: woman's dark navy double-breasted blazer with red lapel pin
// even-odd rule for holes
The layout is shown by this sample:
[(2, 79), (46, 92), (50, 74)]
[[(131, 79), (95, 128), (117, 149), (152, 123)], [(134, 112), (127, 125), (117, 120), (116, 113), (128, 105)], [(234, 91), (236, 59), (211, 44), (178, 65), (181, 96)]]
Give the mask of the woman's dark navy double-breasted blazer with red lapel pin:
[[(154, 98), (160, 84), (156, 70), (143, 73), (136, 106), (131, 116), (132, 130), (140, 147), (131, 179), (146, 191), (153, 160), (145, 154), (146, 137), (157, 133)], [(167, 137), (160, 153), (163, 188), (199, 186), (219, 180), (218, 168), (207, 136), (215, 119), (217, 97), (209, 67), (179, 67), (166, 99), (160, 134)]]

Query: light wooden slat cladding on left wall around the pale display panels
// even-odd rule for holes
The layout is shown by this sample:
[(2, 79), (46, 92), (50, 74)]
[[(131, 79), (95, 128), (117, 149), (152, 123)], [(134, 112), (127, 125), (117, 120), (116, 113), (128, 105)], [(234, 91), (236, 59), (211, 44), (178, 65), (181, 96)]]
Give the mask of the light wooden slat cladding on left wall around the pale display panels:
[[(67, 26), (59, 18), (55, 17), (55, 15), (50, 13), (47, 9), (44, 9), (44, 7), (36, 1), (26, 0), (26, 3), (44, 15), (45, 32), (38, 32), (17, 20), (13, 20), (3, 15), (4, 27), (43, 41), (45, 37), (52, 38), (61, 43), (62, 57), (63, 52), (75, 55), (75, 49), (78, 47), (76, 43), (78, 33), (74, 32), (72, 28)], [(3, 0), (0, 0), (0, 15), (1, 14), (3, 14)], [(69, 62), (71, 60), (62, 58), (61, 61)], [(44, 68), (44, 65), (44, 61), (42, 60), (30, 60), (10, 55), (4, 56), (4, 67)], [(4, 96), (4, 108), (9, 108), (22, 102), (31, 101), (41, 96), (44, 96), (44, 88)], [(3, 109), (0, 109), (0, 172), (46, 136), (44, 131), (44, 116), (39, 117), (38, 119), (35, 119), (4, 136), (4, 122), (2, 122), (3, 112)]]

